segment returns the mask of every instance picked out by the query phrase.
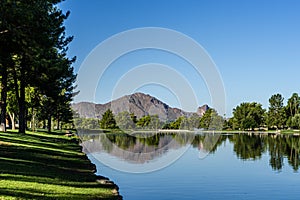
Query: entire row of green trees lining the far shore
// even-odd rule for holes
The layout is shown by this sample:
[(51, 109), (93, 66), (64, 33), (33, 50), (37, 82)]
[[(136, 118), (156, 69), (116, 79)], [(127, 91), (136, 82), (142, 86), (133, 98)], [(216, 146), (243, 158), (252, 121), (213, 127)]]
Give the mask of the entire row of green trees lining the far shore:
[(206, 130), (266, 130), (299, 129), (300, 97), (292, 94), (284, 105), (284, 97), (274, 94), (269, 99), (268, 110), (257, 102), (243, 102), (233, 109), (233, 117), (220, 116), (216, 110), (208, 109), (203, 116), (196, 113), (189, 117), (181, 116), (175, 121), (162, 122), (158, 115), (146, 115), (137, 119), (134, 113), (127, 111), (114, 115), (107, 110), (102, 119), (75, 119), (75, 126), (81, 129), (186, 129), (202, 128)]

